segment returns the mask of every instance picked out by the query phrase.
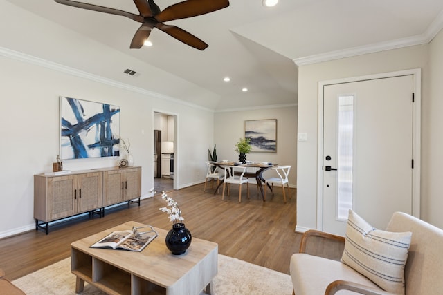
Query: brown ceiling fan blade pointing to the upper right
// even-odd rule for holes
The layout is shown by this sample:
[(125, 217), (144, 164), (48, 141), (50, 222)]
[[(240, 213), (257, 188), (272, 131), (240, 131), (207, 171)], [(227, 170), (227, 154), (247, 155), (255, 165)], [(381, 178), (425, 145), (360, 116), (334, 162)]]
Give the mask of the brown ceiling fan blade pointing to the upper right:
[(229, 0), (188, 0), (168, 6), (159, 15), (156, 15), (155, 18), (163, 23), (164, 21), (172, 21), (174, 19), (186, 19), (187, 17), (204, 15), (228, 6)]

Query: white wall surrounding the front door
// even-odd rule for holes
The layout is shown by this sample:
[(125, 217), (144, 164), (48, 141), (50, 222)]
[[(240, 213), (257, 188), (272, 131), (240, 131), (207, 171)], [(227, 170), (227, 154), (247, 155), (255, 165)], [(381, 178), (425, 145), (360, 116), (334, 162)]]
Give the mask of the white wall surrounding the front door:
[[(440, 33), (441, 34), (441, 33)], [(435, 49), (440, 50), (441, 55), (442, 46)], [(338, 59), (334, 61), (327, 61), (319, 64), (312, 64), (307, 66), (300, 66), (298, 69), (298, 132), (308, 134), (306, 142), (298, 143), (298, 196), (297, 196), (297, 227), (304, 229), (318, 228), (316, 224), (316, 198), (317, 198), (317, 173), (321, 169), (317, 162), (317, 136), (318, 136), (318, 82), (338, 79), (344, 77), (356, 77), (363, 75), (372, 75), (377, 73), (388, 73), (397, 70), (408, 70), (413, 68), (422, 68), (422, 118), (427, 120), (429, 111), (429, 104), (439, 99), (437, 96), (429, 96), (428, 86), (428, 45), (412, 46), (408, 48), (401, 48), (397, 50), (388, 50), (381, 53), (373, 53), (368, 55), (361, 55), (357, 57), (349, 57), (345, 59)], [(433, 79), (441, 79), (440, 76)], [(441, 84), (441, 82), (440, 82)], [(441, 95), (440, 91), (440, 95)], [(437, 110), (435, 110), (437, 112)], [(435, 113), (435, 117), (437, 117)], [(441, 117), (441, 115), (440, 115)], [(439, 118), (440, 119), (440, 118)], [(441, 122), (442, 119), (437, 120)], [(426, 140), (426, 127), (428, 124), (422, 124), (422, 159), (429, 151), (429, 142)], [(441, 126), (438, 124), (437, 126)], [(433, 133), (433, 136), (440, 137), (440, 134)], [(434, 155), (434, 158), (438, 155)], [(424, 173), (428, 174), (429, 169), (426, 162), (422, 161), (422, 176)], [(435, 169), (435, 172), (440, 173)], [(422, 181), (423, 181), (422, 177)], [(426, 180), (425, 180), (426, 181)], [(424, 194), (425, 185), (422, 184), (422, 218), (428, 220), (435, 225), (442, 225), (443, 218), (440, 216), (431, 216), (426, 207), (435, 207), (434, 198), (429, 198)]]

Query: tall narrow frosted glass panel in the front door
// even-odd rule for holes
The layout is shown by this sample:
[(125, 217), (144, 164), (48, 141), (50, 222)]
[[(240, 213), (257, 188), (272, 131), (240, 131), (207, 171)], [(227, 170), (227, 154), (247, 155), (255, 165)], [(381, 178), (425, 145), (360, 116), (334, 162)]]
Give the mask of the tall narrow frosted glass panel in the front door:
[(352, 151), (354, 141), (354, 96), (338, 97), (337, 211), (338, 220), (347, 220), (352, 209)]

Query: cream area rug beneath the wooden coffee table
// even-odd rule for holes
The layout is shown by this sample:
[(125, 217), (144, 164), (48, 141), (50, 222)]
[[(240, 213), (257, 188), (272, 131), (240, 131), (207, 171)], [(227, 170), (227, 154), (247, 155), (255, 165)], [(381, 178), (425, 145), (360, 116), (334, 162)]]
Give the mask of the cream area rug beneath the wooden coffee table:
[[(292, 293), (291, 277), (287, 274), (221, 254), (219, 254), (218, 265), (218, 274), (213, 280), (215, 295)], [(37, 272), (14, 280), (13, 283), (27, 295), (75, 294), (75, 276), (71, 274), (71, 258), (39, 269)], [(105, 293), (85, 283), (82, 294), (102, 295)]]

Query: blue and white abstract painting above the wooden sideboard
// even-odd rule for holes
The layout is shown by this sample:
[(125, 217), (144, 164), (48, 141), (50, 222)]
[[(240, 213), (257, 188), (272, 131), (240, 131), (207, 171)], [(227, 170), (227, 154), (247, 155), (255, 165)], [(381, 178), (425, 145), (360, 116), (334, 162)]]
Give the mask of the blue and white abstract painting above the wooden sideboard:
[(120, 155), (120, 107), (60, 97), (62, 159)]

